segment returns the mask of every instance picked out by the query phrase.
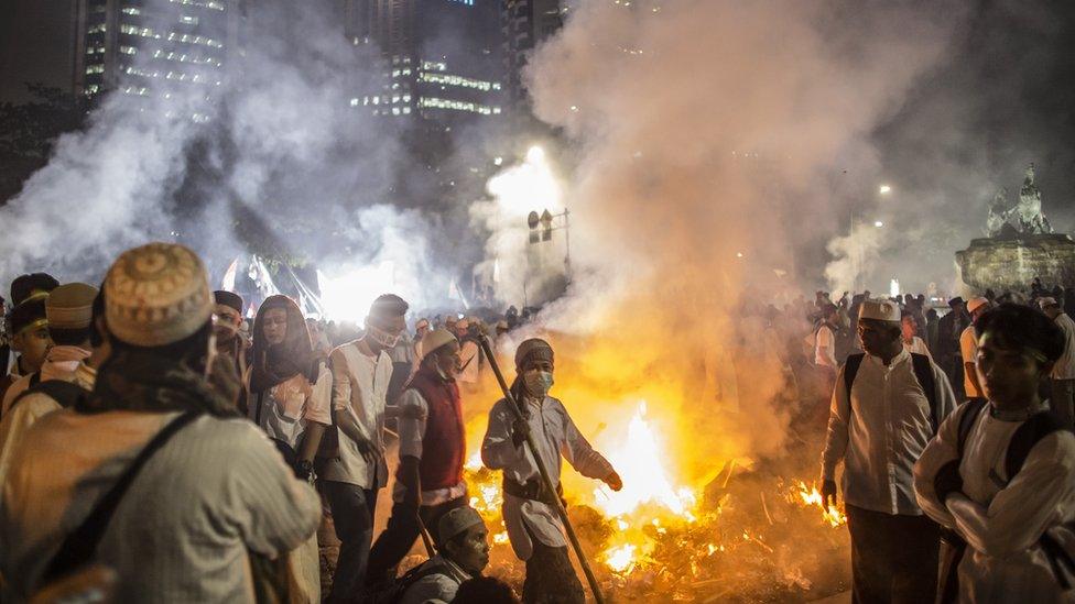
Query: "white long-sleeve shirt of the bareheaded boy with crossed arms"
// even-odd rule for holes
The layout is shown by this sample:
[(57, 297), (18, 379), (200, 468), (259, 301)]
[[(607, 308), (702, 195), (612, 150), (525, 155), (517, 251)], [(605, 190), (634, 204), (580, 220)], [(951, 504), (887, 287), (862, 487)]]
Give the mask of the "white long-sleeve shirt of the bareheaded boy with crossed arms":
[(959, 461), (963, 491), (945, 505), (933, 481), (957, 457), (967, 408), (948, 417), (914, 466), (922, 509), (968, 543), (958, 569), (960, 602), (1075, 602), (1075, 590), (1061, 591), (1039, 545), (1046, 529), (1075, 520), (1075, 435), (1057, 431), (1042, 439), (1006, 484), (1008, 443), (1023, 420), (982, 409)]

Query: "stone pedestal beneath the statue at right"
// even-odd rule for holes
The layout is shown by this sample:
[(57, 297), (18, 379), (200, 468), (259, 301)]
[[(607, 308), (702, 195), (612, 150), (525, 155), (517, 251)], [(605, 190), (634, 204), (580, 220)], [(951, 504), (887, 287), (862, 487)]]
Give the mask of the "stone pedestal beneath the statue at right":
[(1075, 241), (1066, 234), (1022, 234), (1006, 229), (975, 239), (956, 252), (963, 281), (978, 292), (1025, 289), (1034, 277), (1046, 284), (1075, 283)]

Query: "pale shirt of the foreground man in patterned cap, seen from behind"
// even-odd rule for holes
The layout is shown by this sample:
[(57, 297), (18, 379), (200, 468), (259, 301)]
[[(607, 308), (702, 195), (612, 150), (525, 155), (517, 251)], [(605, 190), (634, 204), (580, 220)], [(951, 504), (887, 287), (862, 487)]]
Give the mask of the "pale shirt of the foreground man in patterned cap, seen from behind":
[[(30, 428), (0, 499), (0, 572), (11, 602), (40, 586), (64, 537), (177, 415), (63, 409)], [(319, 521), (317, 493), (257, 426), (200, 417), (141, 469), (97, 561), (119, 576), (116, 602), (252, 603), (248, 551), (279, 557)]]

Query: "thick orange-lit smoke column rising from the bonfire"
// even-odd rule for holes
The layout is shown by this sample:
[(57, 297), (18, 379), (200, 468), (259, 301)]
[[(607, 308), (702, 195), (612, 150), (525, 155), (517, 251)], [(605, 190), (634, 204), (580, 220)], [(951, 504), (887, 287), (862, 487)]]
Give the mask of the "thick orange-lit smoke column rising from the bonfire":
[(960, 12), (703, 0), (568, 12), (528, 83), (578, 155), (564, 194), (575, 281), (542, 317), (569, 334), (557, 366), (585, 383), (584, 421), (647, 398), (693, 435), (674, 446), (695, 462), (686, 473), (782, 450), (779, 352), (758, 306), (800, 290), (789, 275), (822, 272), (799, 252), (880, 174), (871, 136), (942, 59)]

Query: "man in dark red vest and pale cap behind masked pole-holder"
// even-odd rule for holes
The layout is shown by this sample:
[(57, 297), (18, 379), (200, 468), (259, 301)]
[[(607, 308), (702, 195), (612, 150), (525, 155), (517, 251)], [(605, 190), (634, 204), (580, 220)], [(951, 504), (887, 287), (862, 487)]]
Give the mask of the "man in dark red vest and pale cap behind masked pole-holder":
[(392, 515), (370, 552), (370, 586), (394, 579), (395, 568), (425, 527), (467, 505), (463, 479), (466, 430), (455, 376), (459, 341), (445, 330), (426, 333), (425, 356), (400, 397), (400, 464), (392, 491)]

